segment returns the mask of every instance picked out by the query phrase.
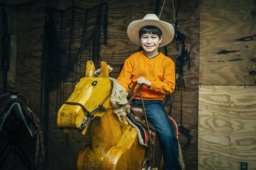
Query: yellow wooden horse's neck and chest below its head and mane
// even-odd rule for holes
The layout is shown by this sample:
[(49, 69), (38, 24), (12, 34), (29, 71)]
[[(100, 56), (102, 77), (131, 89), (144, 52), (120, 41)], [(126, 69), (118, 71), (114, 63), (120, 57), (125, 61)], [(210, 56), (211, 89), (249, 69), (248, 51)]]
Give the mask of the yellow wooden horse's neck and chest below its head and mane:
[[(109, 105), (108, 108), (112, 108), (112, 105)], [(102, 117), (95, 117), (90, 126), (92, 147), (107, 151), (116, 146), (122, 138), (125, 126), (125, 123), (120, 122), (116, 114), (113, 113), (113, 109), (107, 110)]]

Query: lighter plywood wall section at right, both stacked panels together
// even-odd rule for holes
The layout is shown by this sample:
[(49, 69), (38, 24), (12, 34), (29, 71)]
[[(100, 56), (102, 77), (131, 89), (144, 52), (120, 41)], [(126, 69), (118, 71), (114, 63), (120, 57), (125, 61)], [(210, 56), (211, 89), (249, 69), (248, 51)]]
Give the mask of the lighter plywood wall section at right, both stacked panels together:
[(198, 170), (256, 168), (255, 7), (201, 1)]

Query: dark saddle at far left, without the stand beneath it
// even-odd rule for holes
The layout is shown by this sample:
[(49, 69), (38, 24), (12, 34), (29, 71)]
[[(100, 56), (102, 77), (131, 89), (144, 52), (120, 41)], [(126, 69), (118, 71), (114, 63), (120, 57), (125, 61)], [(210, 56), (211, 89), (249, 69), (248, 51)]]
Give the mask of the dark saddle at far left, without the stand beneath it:
[(38, 167), (44, 160), (43, 135), (40, 122), (28, 105), (28, 98), (17, 92), (0, 96), (0, 132), (6, 119), (14, 113), (15, 117), (22, 119), (31, 137), (36, 136), (36, 150), (34, 167)]

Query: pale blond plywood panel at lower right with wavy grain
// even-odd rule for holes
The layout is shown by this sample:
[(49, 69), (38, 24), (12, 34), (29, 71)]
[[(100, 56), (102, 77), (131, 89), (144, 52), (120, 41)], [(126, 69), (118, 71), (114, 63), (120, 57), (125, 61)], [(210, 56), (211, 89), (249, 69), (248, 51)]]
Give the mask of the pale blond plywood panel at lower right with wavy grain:
[(256, 169), (256, 86), (199, 86), (198, 170)]

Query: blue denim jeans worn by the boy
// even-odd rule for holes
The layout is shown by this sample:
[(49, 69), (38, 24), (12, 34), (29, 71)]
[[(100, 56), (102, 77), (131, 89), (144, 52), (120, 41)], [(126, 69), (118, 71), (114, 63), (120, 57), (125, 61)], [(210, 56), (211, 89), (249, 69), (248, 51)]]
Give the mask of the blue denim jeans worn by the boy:
[[(163, 108), (162, 100), (143, 100), (148, 120), (154, 125), (163, 146), (163, 170), (181, 170), (178, 161), (178, 140), (172, 124)], [(142, 106), (141, 100), (133, 99), (134, 104)]]

